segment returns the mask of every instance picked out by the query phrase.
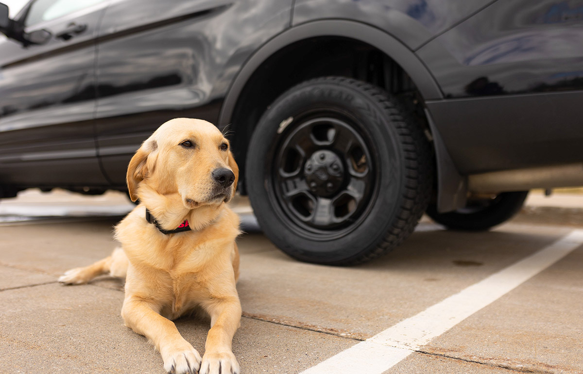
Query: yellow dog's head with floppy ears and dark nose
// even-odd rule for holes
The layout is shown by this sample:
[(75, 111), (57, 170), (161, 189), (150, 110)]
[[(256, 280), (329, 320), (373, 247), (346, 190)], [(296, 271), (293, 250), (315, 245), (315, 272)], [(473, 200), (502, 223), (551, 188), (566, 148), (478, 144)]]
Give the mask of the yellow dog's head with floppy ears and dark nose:
[(129, 161), (129, 196), (147, 184), (161, 195), (178, 193), (188, 209), (228, 202), (237, 188), (239, 168), (229, 141), (202, 119), (175, 118), (160, 126)]

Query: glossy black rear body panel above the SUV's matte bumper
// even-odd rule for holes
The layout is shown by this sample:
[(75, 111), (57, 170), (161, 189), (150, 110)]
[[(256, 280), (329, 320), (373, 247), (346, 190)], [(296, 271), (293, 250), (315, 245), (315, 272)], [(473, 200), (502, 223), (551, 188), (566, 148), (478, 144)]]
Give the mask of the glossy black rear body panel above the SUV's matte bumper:
[(498, 1), (419, 51), (446, 98), (583, 90), (583, 1)]

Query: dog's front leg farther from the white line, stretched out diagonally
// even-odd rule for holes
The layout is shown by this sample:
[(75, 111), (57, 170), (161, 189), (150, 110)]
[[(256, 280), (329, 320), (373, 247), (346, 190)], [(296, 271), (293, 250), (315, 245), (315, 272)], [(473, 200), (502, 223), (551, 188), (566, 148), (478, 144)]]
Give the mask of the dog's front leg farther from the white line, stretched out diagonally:
[(156, 306), (129, 297), (124, 301), (121, 316), (125, 326), (152, 341), (168, 373), (196, 373), (201, 368), (201, 355), (180, 335), (174, 322), (159, 314)]

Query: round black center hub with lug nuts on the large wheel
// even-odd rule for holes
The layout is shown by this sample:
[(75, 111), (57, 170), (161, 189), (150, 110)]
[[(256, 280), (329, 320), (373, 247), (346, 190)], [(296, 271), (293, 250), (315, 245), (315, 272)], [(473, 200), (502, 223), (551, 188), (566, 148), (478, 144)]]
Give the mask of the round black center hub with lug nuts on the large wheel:
[(318, 196), (333, 196), (344, 182), (344, 167), (340, 157), (329, 150), (315, 151), (304, 165), (305, 180)]

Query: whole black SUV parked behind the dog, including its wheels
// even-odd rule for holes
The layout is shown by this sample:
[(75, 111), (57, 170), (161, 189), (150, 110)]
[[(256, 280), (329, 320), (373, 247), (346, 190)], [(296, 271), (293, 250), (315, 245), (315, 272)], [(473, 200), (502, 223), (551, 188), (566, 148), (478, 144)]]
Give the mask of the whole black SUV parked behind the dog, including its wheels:
[(0, 197), (124, 190), (174, 117), (226, 130), (265, 234), (309, 262), (583, 184), (580, 0), (32, 0), (0, 31)]

